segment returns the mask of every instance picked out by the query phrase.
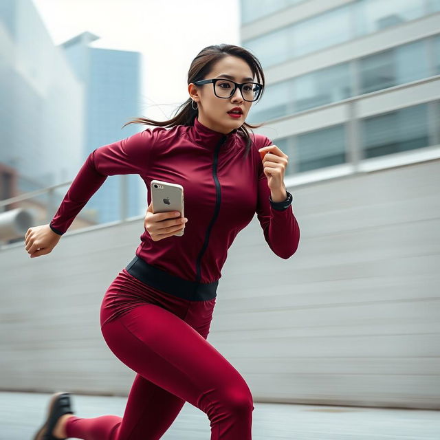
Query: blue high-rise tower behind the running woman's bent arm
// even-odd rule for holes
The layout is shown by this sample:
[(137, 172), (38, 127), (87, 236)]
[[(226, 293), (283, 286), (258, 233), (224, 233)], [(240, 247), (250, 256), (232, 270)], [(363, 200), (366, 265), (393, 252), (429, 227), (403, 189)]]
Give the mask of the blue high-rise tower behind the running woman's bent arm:
[[(91, 47), (98, 38), (83, 32), (61, 45), (86, 90), (83, 160), (96, 148), (142, 130), (135, 124), (122, 129), (140, 114), (140, 53)], [(122, 195), (124, 184), (129, 197)], [(87, 209), (96, 212), (97, 223), (108, 223), (120, 219), (122, 203), (127, 217), (144, 213), (146, 188), (138, 175), (107, 177), (87, 202)]]

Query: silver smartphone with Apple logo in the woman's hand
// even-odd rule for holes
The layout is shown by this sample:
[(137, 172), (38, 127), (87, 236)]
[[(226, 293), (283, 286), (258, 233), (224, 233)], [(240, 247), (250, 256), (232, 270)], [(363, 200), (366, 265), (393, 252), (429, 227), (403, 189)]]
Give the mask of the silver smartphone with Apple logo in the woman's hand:
[[(180, 216), (185, 217), (183, 186), (153, 179), (150, 184), (150, 191), (153, 214), (157, 212), (179, 211)], [(175, 218), (177, 219), (177, 217)], [(173, 235), (182, 236), (184, 229), (185, 227)]]

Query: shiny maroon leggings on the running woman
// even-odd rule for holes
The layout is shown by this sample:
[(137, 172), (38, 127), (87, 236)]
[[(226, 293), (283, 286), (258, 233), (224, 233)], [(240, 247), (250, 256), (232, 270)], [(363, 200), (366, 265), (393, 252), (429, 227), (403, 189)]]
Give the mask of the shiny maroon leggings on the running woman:
[(211, 440), (250, 440), (250, 389), (206, 341), (214, 305), (215, 298), (186, 300), (119, 272), (102, 300), (100, 322), (111, 351), (137, 373), (124, 417), (70, 417), (67, 437), (160, 439), (188, 401), (208, 415)]

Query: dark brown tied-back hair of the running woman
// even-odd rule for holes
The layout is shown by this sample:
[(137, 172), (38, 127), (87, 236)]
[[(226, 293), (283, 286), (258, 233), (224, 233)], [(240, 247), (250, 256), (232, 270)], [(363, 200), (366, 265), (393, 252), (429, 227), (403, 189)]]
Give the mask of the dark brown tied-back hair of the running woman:
[[(261, 95), (259, 97), (260, 100), (263, 96), (265, 89), (265, 77), (263, 73), (263, 68), (261, 67), (259, 60), (254, 55), (252, 55), (250, 52), (248, 52), (248, 50), (245, 50), (243, 47), (240, 46), (220, 44), (205, 47), (192, 60), (190, 69), (188, 71), (188, 85), (190, 85), (190, 83), (195, 83), (196, 81), (203, 79), (203, 77), (210, 72), (214, 63), (221, 60), (221, 58), (230, 55), (242, 58), (243, 61), (248, 63), (252, 71), (252, 75), (256, 76), (257, 83), (263, 85), (263, 91), (261, 92)], [(130, 122), (124, 124), (122, 128), (128, 124), (146, 124), (165, 127), (173, 127), (176, 125), (194, 125), (194, 120), (198, 114), (198, 111), (197, 109), (192, 109), (191, 104), (192, 99), (188, 98), (183, 104), (179, 106), (179, 108), (175, 112), (175, 117), (171, 118), (170, 120), (155, 121), (148, 118), (135, 118), (134, 120), (131, 120)], [(250, 145), (252, 143), (248, 128), (252, 131), (252, 129), (257, 129), (261, 125), (263, 124), (250, 125), (247, 122), (243, 122), (239, 129), (237, 129), (237, 133), (244, 137), (246, 140), (245, 155), (248, 155), (250, 151)]]

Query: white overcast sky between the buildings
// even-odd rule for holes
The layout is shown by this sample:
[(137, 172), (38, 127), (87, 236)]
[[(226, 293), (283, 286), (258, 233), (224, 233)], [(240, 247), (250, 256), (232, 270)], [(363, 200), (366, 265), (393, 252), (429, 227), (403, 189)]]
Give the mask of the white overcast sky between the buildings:
[(169, 119), (188, 98), (188, 69), (203, 47), (240, 45), (239, 0), (32, 1), (55, 45), (89, 31), (100, 36), (92, 47), (141, 52), (140, 115), (153, 119)]

